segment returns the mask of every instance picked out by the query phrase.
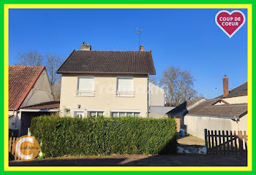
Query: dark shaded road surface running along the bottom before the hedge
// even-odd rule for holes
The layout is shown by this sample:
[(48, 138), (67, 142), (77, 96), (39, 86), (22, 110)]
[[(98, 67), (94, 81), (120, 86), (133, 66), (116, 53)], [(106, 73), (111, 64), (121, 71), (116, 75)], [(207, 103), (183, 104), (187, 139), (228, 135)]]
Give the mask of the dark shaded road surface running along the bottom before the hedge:
[(10, 166), (247, 166), (247, 158), (225, 155), (110, 155), (10, 161)]

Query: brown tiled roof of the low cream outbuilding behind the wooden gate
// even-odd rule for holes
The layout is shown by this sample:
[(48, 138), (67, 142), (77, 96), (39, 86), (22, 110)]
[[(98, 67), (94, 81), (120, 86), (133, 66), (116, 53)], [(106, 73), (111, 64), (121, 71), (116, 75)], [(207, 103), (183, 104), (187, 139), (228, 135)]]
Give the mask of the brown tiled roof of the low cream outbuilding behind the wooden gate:
[(219, 117), (241, 117), (247, 113), (247, 104), (222, 104), (213, 105), (219, 99), (206, 100), (189, 110), (188, 114), (210, 115)]

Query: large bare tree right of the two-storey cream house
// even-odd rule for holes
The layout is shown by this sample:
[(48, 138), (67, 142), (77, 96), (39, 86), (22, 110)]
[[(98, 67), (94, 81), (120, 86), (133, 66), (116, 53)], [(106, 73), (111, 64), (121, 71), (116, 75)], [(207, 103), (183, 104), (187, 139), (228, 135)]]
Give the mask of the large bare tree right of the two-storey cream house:
[(184, 101), (199, 97), (200, 95), (193, 89), (194, 81), (190, 71), (182, 71), (174, 66), (165, 70), (160, 84), (165, 89), (167, 104), (178, 106)]

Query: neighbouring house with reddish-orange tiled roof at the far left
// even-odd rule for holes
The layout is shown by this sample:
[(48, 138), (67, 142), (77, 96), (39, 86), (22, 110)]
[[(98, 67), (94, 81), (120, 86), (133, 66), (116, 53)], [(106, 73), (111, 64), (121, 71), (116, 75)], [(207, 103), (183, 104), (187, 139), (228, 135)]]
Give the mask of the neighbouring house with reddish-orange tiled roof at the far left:
[(9, 129), (27, 134), (31, 117), (49, 114), (33, 106), (50, 101), (54, 98), (45, 66), (9, 66)]

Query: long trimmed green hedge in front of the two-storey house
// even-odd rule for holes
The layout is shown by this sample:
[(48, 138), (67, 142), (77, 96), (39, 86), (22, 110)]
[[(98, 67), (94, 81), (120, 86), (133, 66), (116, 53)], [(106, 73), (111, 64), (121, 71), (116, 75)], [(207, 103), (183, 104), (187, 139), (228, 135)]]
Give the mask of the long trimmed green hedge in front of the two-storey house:
[(173, 119), (139, 117), (41, 116), (31, 120), (31, 135), (45, 157), (64, 155), (165, 154), (176, 152)]

